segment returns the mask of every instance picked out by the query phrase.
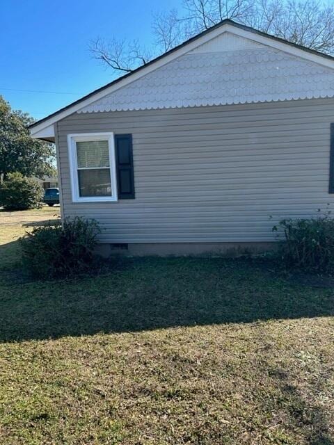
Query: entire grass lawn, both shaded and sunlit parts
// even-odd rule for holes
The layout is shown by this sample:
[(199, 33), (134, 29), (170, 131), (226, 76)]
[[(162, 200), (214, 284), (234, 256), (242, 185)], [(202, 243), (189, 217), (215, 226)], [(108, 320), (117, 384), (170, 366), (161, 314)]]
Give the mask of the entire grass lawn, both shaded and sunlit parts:
[(256, 261), (38, 282), (0, 212), (0, 443), (334, 444), (334, 293)]

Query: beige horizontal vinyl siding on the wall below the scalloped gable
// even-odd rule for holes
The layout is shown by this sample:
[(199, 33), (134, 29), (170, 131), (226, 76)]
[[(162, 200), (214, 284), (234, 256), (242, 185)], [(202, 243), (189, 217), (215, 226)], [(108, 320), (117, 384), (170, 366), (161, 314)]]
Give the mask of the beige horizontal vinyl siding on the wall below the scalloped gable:
[[(334, 99), (72, 114), (58, 122), (64, 216), (108, 243), (273, 241), (328, 194)], [(132, 133), (136, 199), (73, 203), (67, 134)], [(272, 217), (272, 219), (270, 218)]]

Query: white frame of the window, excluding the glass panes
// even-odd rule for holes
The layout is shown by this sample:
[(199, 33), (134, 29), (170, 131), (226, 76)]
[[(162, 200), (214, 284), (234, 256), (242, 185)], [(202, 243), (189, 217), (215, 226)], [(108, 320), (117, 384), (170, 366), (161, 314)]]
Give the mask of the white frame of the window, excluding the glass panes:
[[(78, 161), (77, 161), (77, 142), (90, 142), (95, 140), (107, 140), (109, 147), (109, 169), (111, 181), (111, 196), (80, 196), (79, 193), (79, 177), (78, 177)], [(116, 155), (115, 141), (113, 132), (102, 133), (72, 133), (67, 135), (68, 154), (70, 161), (70, 179), (72, 189), (73, 202), (117, 202), (117, 177), (116, 177)], [(106, 169), (107, 167), (104, 167)], [(92, 168), (95, 170), (95, 168)], [(101, 168), (103, 169), (103, 167)], [(84, 170), (84, 169), (80, 169)], [(86, 170), (90, 170), (87, 168)]]

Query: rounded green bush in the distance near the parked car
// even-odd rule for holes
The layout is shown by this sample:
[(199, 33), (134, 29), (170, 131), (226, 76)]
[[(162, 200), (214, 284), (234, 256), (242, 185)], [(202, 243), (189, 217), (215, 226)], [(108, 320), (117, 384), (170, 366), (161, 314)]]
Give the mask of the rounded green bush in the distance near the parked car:
[(38, 181), (21, 173), (10, 173), (0, 184), (0, 205), (6, 210), (36, 209), (42, 205), (43, 196)]

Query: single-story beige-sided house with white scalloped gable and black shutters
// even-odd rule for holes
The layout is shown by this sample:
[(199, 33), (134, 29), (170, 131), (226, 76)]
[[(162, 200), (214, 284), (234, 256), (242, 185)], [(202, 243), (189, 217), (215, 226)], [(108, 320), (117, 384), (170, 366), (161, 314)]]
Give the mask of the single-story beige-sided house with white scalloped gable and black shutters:
[(259, 252), (334, 202), (334, 58), (230, 20), (31, 125), (105, 254)]

